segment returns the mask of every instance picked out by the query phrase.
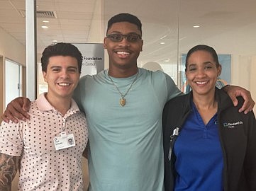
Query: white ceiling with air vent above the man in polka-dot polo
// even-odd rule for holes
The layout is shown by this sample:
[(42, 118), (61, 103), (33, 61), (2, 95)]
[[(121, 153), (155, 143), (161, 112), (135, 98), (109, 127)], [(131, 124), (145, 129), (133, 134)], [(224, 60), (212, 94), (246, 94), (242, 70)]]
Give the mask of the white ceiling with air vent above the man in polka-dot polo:
[[(57, 18), (37, 19), (37, 44), (41, 53), (53, 40), (57, 42), (87, 42), (94, 11), (94, 0), (42, 0), (37, 11), (53, 11)], [(26, 45), (25, 0), (0, 0), (0, 27)], [(43, 23), (44, 20), (50, 23)], [(41, 28), (48, 25), (48, 29)]]

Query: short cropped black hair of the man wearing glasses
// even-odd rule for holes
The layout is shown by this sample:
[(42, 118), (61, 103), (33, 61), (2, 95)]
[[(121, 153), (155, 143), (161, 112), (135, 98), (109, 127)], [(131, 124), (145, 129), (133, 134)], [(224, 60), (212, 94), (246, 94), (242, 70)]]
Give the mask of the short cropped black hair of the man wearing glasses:
[(140, 33), (142, 33), (142, 24), (140, 22), (140, 19), (138, 19), (137, 16), (134, 16), (130, 13), (119, 13), (116, 16), (111, 17), (108, 20), (108, 28), (106, 32), (108, 32), (109, 28), (113, 25), (113, 23), (119, 23), (119, 22), (128, 22), (137, 25), (138, 30), (140, 30)]

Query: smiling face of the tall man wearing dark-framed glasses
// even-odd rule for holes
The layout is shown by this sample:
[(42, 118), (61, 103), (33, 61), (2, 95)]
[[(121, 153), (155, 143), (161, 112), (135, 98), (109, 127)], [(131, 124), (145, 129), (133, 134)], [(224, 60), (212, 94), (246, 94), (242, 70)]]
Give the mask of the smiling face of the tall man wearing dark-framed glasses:
[[(113, 23), (108, 29), (107, 35), (113, 34), (138, 34), (141, 35), (137, 25), (128, 22)], [(104, 38), (104, 48), (108, 51), (109, 69), (135, 69), (137, 71), (137, 59), (142, 51), (143, 40), (129, 42), (123, 37), (121, 42), (113, 42), (110, 37)]]

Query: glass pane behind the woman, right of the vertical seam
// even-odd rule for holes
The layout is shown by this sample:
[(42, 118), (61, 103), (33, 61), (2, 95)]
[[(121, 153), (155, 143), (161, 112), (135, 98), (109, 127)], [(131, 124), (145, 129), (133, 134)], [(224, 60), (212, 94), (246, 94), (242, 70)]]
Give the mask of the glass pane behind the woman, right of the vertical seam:
[[(221, 78), (256, 98), (255, 1), (179, 0), (179, 55), (198, 44), (210, 45), (223, 67)], [(182, 69), (182, 59), (179, 59)]]

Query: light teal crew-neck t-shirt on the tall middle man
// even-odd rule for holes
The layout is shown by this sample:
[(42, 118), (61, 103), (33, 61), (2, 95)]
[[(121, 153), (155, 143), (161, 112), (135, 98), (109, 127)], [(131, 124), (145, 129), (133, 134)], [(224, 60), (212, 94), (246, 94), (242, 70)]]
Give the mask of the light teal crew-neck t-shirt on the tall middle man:
[(124, 94), (136, 74), (112, 83), (101, 71), (82, 77), (74, 92), (89, 129), (89, 190), (164, 190), (162, 109), (181, 92), (162, 71), (138, 72), (123, 107), (113, 83)]

